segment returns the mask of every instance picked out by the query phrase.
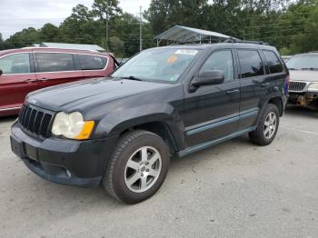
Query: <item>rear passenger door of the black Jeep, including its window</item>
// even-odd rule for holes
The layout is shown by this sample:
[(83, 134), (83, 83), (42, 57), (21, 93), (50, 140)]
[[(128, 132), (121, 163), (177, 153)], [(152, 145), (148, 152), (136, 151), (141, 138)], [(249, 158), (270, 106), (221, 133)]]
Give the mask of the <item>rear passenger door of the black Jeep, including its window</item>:
[(266, 100), (266, 87), (271, 78), (265, 74), (263, 58), (257, 49), (237, 49), (241, 78), (241, 104), (239, 129), (256, 123), (257, 116)]

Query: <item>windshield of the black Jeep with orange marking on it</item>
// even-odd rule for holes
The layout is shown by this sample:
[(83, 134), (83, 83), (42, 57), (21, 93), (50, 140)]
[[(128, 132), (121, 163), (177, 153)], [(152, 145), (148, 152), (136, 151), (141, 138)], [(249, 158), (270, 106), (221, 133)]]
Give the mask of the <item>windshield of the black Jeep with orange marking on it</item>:
[(146, 81), (176, 81), (198, 55), (198, 49), (155, 48), (146, 50), (119, 67), (112, 77)]

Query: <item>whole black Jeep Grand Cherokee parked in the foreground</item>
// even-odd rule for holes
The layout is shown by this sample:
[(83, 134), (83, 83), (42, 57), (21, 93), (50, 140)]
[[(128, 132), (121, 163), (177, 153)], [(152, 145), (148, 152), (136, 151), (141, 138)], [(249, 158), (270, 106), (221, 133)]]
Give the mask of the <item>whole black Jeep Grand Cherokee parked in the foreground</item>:
[(270, 144), (289, 74), (269, 45), (148, 49), (110, 78), (29, 94), (12, 126), (12, 150), (44, 179), (103, 183), (138, 203), (164, 182), (169, 158), (249, 133)]

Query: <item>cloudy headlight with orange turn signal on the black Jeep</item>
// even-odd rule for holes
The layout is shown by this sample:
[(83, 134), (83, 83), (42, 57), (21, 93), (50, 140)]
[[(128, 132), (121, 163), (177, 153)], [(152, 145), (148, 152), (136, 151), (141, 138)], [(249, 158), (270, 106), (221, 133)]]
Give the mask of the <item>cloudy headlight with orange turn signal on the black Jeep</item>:
[(81, 113), (65, 114), (61, 112), (55, 115), (52, 133), (69, 139), (84, 140), (89, 138), (93, 128), (94, 121), (85, 122)]

